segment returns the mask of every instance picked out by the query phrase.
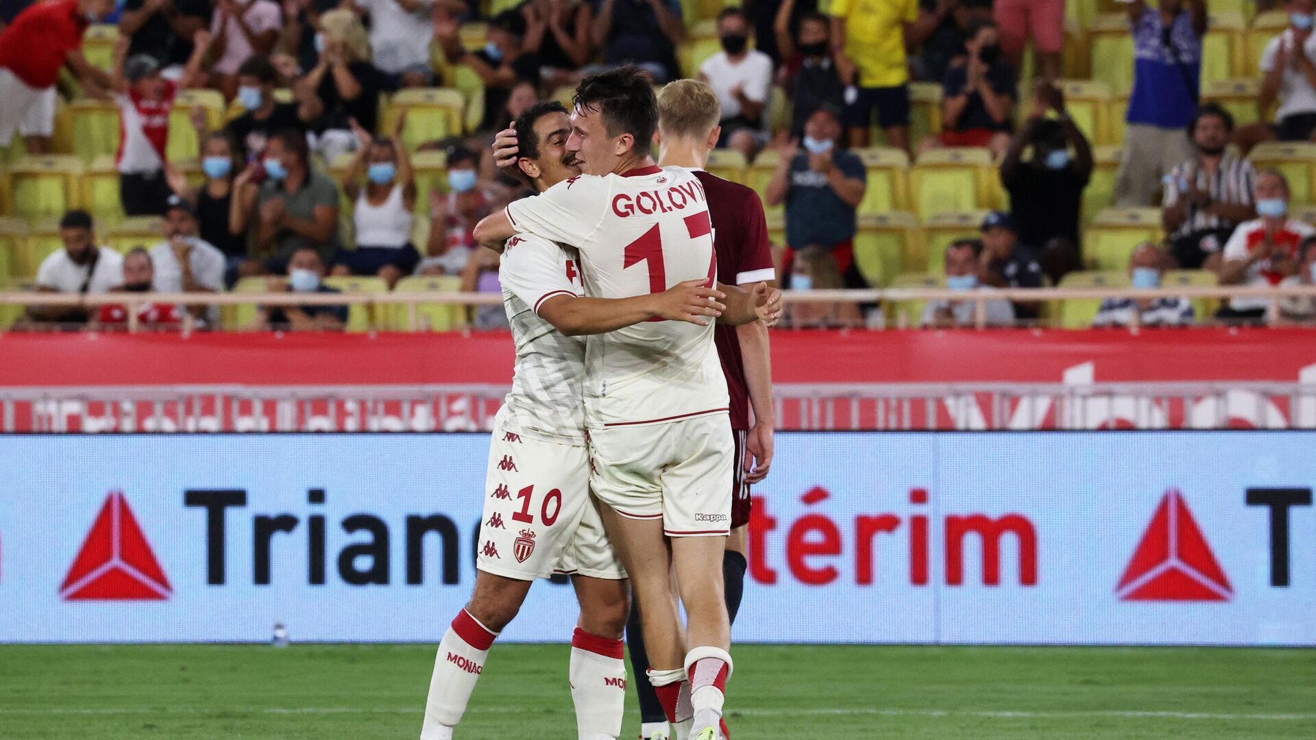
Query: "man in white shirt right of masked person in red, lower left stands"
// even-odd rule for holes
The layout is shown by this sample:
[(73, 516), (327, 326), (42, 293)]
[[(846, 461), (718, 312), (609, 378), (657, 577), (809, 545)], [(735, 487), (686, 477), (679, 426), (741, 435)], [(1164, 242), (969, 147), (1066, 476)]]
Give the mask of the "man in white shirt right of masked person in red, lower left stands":
[[(164, 212), (164, 241), (150, 249), (155, 292), (220, 292), (224, 290), (224, 253), (196, 236), (199, 223), (191, 201), (170, 196)], [(218, 319), (217, 307), (192, 305), (196, 317)]]

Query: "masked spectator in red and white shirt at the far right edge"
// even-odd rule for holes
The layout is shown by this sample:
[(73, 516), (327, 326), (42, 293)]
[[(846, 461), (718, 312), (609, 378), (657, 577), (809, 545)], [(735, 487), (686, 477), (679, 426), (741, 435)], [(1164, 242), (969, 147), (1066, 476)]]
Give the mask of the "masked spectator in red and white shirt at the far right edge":
[[(1278, 170), (1257, 172), (1257, 219), (1238, 224), (1225, 244), (1219, 270), (1223, 286), (1277, 286), (1298, 274), (1298, 245), (1316, 233), (1288, 217), (1288, 180)], [(1227, 321), (1261, 323), (1269, 298), (1232, 298), (1216, 316)]]

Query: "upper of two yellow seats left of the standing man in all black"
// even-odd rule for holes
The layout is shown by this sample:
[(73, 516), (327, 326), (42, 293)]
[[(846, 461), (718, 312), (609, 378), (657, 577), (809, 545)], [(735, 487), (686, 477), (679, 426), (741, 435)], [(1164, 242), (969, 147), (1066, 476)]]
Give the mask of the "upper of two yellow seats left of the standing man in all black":
[(924, 220), (934, 213), (975, 211), (991, 203), (988, 178), (996, 176), (991, 151), (984, 147), (933, 149), (909, 171), (911, 204)]

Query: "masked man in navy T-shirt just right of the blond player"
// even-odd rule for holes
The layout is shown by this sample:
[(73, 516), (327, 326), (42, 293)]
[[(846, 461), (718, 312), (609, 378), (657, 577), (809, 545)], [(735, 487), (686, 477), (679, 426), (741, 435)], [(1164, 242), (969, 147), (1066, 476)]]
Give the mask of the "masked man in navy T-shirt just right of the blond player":
[(854, 263), (857, 213), (867, 187), (867, 170), (851, 151), (837, 147), (841, 120), (819, 108), (804, 125), (804, 147), (791, 145), (767, 184), (767, 204), (786, 204), (786, 275), (797, 250), (817, 246), (832, 253), (846, 287), (867, 287)]

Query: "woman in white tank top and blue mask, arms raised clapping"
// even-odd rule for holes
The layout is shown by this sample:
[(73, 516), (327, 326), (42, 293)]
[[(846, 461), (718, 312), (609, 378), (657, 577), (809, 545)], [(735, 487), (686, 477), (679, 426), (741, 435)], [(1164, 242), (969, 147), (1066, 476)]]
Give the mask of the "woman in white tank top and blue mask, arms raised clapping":
[(404, 124), (405, 116), (399, 116), (392, 138), (374, 138), (351, 120), (362, 147), (342, 178), (342, 190), (353, 203), (357, 249), (338, 249), (334, 275), (378, 275), (392, 290), (420, 262), (411, 244), (416, 179), (401, 141)]

